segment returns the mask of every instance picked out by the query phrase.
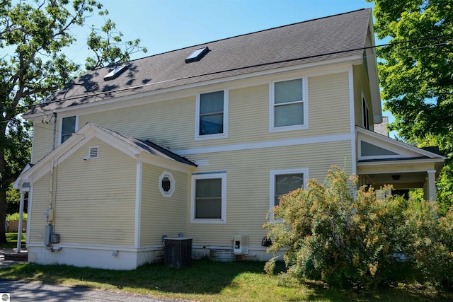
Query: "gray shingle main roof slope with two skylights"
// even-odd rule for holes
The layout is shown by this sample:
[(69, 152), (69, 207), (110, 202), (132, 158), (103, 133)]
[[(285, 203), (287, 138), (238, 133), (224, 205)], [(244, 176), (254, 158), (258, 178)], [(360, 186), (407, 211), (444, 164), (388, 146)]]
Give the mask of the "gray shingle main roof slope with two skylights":
[[(361, 55), (371, 9), (294, 23), (127, 62), (115, 79), (103, 77), (115, 67), (88, 71), (28, 114), (98, 100), (145, 93), (190, 83), (327, 59)], [(209, 47), (199, 62), (185, 63), (194, 50)]]

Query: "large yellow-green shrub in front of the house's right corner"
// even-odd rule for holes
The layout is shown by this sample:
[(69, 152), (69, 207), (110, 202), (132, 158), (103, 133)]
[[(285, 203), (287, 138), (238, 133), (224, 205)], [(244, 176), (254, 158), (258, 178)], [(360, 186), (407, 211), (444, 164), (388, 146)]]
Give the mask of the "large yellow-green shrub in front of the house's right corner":
[[(287, 274), (369, 288), (388, 281), (396, 256), (404, 255), (431, 279), (451, 277), (453, 214), (437, 220), (431, 203), (355, 187), (355, 178), (348, 180), (334, 167), (323, 184), (309, 180), (307, 190), (280, 199), (271, 212), (273, 220), (264, 227), (273, 240), (269, 251), (285, 251)], [(382, 190), (389, 192), (391, 187)], [(445, 269), (435, 268), (445, 261), (450, 261)], [(272, 268), (272, 262), (266, 267)], [(440, 283), (451, 281), (448, 278)]]

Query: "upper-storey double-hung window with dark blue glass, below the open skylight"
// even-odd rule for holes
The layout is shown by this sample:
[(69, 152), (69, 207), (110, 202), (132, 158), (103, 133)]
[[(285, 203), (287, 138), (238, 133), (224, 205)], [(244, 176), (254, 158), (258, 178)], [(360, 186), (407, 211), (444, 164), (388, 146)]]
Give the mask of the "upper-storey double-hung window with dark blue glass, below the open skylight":
[(197, 95), (195, 139), (227, 137), (228, 91)]

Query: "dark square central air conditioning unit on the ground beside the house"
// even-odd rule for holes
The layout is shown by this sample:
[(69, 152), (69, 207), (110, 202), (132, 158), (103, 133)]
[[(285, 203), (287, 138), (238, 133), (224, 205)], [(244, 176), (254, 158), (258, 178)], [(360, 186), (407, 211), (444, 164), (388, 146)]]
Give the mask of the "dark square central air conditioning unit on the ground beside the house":
[(164, 238), (164, 256), (168, 267), (188, 267), (192, 264), (192, 238)]

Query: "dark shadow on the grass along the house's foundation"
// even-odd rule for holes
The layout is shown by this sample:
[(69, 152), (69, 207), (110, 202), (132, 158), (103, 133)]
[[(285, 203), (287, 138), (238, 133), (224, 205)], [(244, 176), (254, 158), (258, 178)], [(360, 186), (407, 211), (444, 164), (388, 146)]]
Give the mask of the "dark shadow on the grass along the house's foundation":
[[(39, 279), (61, 284), (64, 279), (181, 294), (218, 294), (244, 272), (265, 274), (264, 262), (212, 262), (196, 260), (190, 267), (172, 269), (163, 264), (143, 265), (130, 271), (91, 269), (67, 265), (15, 265), (0, 270), (0, 279)], [(77, 285), (78, 286), (78, 285)], [(83, 284), (88, 287), (90, 285)]]

